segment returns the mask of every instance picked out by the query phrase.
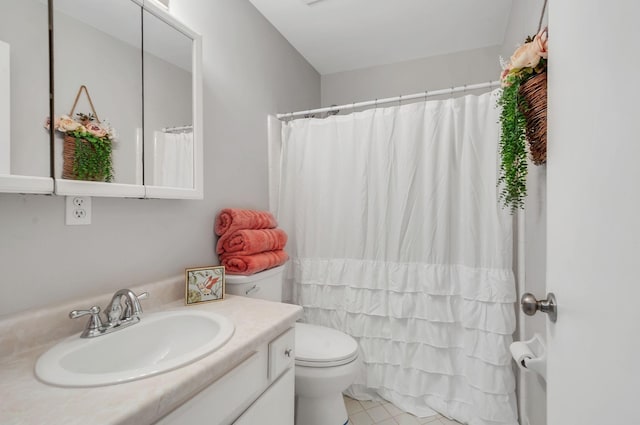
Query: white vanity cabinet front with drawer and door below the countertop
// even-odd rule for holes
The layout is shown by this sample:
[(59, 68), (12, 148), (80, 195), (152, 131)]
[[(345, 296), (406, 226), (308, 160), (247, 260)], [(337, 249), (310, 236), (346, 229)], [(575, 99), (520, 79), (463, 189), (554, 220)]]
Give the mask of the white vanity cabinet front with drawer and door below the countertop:
[(293, 425), (294, 343), (291, 328), (156, 424)]

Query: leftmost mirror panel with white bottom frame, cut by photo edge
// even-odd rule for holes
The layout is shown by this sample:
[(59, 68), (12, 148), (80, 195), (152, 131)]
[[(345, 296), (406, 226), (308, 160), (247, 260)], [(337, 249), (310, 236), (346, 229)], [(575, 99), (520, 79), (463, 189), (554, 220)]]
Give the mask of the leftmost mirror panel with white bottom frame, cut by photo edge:
[(0, 2), (0, 192), (53, 192), (47, 7)]

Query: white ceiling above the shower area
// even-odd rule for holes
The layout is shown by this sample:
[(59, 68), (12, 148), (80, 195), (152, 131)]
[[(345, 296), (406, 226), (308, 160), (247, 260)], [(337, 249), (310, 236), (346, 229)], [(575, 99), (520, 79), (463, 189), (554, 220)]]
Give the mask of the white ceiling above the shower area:
[(513, 0), (249, 0), (320, 74), (502, 44)]

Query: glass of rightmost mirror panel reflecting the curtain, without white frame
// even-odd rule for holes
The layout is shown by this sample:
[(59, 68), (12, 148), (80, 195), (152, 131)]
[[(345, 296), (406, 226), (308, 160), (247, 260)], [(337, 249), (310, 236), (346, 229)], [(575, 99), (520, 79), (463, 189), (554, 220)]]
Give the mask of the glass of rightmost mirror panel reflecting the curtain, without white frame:
[(193, 40), (143, 12), (144, 181), (194, 187)]

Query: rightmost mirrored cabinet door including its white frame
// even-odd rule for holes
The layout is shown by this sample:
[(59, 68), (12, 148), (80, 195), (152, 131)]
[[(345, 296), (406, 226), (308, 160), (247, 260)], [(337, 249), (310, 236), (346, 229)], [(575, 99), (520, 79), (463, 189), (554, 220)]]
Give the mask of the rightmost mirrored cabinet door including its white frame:
[(145, 196), (202, 199), (201, 38), (149, 2), (142, 26)]

